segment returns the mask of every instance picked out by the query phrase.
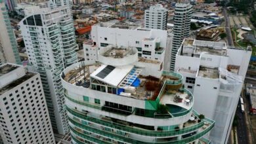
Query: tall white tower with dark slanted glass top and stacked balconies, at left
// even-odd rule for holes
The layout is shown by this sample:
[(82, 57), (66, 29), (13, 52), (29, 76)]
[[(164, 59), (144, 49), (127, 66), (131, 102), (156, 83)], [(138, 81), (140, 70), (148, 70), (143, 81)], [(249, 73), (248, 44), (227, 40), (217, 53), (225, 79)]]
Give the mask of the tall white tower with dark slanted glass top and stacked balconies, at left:
[(41, 75), (53, 130), (66, 134), (68, 123), (60, 73), (77, 62), (77, 44), (68, 2), (56, 1), (49, 6), (26, 16), (20, 29), (29, 61)]

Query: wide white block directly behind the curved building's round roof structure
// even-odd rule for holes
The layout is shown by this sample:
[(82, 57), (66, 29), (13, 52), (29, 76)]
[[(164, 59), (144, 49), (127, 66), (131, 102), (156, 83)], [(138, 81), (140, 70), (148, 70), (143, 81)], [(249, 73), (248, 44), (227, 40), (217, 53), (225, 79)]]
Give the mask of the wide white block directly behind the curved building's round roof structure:
[(85, 60), (98, 60), (98, 50), (108, 45), (133, 46), (138, 56), (158, 60), (163, 65), (167, 49), (167, 31), (144, 29), (136, 24), (102, 22), (92, 26), (91, 41), (83, 45)]

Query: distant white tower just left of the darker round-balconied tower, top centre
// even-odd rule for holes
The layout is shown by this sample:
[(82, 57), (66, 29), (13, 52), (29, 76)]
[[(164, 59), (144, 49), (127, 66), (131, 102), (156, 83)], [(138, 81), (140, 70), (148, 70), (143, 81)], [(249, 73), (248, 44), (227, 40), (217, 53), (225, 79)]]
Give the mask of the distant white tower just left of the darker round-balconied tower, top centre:
[(167, 16), (168, 11), (162, 5), (153, 5), (150, 9), (145, 10), (144, 27), (166, 30)]

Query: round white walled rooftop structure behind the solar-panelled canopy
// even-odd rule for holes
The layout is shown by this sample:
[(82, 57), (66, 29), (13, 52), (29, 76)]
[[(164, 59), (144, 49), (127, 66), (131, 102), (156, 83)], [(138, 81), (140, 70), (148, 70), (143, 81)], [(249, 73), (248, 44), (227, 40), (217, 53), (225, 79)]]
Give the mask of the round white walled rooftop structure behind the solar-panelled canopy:
[(129, 65), (138, 61), (138, 51), (135, 47), (116, 48), (109, 45), (98, 50), (98, 60), (106, 65)]

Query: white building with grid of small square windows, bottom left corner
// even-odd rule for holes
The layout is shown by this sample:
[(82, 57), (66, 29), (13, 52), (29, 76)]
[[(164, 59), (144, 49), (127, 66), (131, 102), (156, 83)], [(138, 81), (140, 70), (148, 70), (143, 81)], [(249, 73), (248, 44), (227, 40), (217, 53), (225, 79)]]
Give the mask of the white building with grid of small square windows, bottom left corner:
[(0, 135), (3, 143), (55, 143), (38, 73), (0, 67)]

